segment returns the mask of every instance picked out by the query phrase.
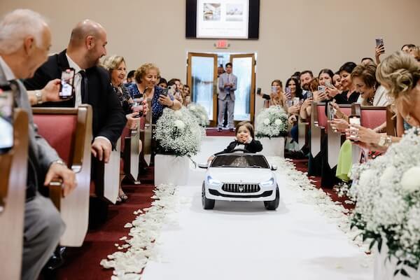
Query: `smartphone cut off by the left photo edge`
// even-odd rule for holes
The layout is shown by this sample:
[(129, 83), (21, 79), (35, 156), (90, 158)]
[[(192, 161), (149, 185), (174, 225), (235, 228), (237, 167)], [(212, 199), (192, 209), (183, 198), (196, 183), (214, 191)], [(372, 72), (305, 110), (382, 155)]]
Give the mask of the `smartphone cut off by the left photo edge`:
[(13, 148), (13, 90), (0, 85), (0, 154)]

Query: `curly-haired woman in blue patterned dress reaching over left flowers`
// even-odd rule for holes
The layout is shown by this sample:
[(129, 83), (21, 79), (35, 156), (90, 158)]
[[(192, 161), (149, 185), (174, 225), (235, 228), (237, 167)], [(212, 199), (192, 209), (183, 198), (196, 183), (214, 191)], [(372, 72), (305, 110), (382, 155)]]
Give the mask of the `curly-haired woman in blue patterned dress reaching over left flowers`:
[(162, 95), (162, 87), (158, 87), (156, 80), (160, 74), (158, 66), (152, 63), (143, 64), (137, 69), (134, 78), (136, 84), (128, 87), (132, 97), (143, 97), (152, 99), (152, 123), (156, 124), (163, 109), (171, 108), (173, 110), (181, 109), (181, 103), (169, 96)]

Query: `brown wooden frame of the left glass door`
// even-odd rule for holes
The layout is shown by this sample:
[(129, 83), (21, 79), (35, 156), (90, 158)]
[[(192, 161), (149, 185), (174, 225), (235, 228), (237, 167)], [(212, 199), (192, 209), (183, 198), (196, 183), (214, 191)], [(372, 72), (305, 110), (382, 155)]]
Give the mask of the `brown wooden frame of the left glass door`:
[(187, 59), (187, 85), (190, 87), (190, 96), (191, 102), (194, 102), (193, 94), (193, 76), (192, 74), (192, 58), (193, 57), (213, 57), (214, 58), (214, 73), (213, 73), (213, 120), (210, 121), (210, 127), (216, 127), (217, 125), (217, 59), (218, 55), (216, 53), (205, 53), (205, 52), (188, 52)]

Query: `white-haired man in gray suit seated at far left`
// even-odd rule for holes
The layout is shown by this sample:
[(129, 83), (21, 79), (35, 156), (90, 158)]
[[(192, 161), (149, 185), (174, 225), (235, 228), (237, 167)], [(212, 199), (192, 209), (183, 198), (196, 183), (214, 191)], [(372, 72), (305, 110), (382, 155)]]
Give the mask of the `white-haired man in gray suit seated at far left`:
[[(46, 61), (51, 33), (45, 20), (31, 10), (14, 10), (0, 22), (0, 83), (10, 83), (15, 106), (29, 117), (27, 193), (22, 256), (22, 279), (37, 279), (64, 232), (64, 223), (51, 200), (38, 193), (54, 178), (62, 179), (63, 193), (76, 187), (74, 172), (36, 133), (27, 91), (19, 79), (30, 78)], [(13, 237), (10, 237), (13, 238)]]

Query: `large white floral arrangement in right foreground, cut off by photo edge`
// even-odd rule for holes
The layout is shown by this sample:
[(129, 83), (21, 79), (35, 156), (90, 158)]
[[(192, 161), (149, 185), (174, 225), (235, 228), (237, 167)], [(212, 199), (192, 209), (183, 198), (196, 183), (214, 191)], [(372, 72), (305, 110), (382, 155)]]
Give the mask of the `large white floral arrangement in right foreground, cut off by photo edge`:
[(388, 247), (387, 257), (397, 260), (396, 274), (408, 276), (403, 267), (420, 264), (420, 130), (412, 129), (381, 157), (352, 170), (349, 195), (356, 201), (352, 226), (363, 239)]

